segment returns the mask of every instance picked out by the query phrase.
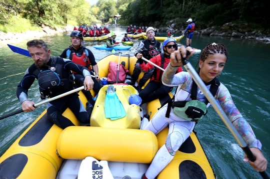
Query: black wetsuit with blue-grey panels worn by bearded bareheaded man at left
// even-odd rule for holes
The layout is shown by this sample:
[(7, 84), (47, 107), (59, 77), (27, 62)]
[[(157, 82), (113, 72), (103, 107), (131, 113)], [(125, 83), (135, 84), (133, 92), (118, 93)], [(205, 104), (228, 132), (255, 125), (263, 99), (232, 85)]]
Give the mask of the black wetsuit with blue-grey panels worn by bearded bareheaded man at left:
[[(50, 58), (50, 60), (47, 62), (47, 65), (52, 66), (51, 62), (52, 62), (52, 58)], [(63, 79), (64, 83), (61, 86), (51, 89), (50, 92), (52, 93), (49, 95), (50, 97), (60, 95), (62, 93), (65, 93), (73, 89), (72, 82), (67, 80), (70, 78), (70, 70), (75, 71), (78, 74), (83, 75), (84, 77), (90, 75), (90, 72), (85, 67), (77, 65), (68, 59), (62, 59), (62, 58), (57, 57), (55, 68), (56, 68), (56, 73), (57, 72), (61, 73), (61, 75), (59, 76), (61, 77), (61, 81)], [(35, 66), (35, 64), (32, 64), (26, 70), (22, 80), (17, 86), (16, 94), (20, 103), (27, 100), (28, 89), (33, 84), (34, 80), (38, 79), (38, 74), (48, 69), (49, 67), (46, 66), (40, 69), (39, 71), (37, 67)], [(54, 124), (61, 127), (62, 129), (68, 126), (73, 126), (74, 124), (68, 118), (62, 116), (62, 113), (65, 111), (67, 107), (69, 107), (69, 109), (74, 113), (76, 118), (81, 123), (89, 122), (90, 116), (86, 112), (81, 101), (79, 100), (77, 93), (72, 93), (67, 96), (48, 102), (47, 103), (48, 118)]]

